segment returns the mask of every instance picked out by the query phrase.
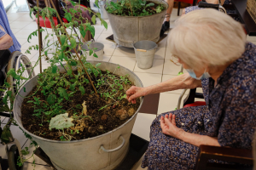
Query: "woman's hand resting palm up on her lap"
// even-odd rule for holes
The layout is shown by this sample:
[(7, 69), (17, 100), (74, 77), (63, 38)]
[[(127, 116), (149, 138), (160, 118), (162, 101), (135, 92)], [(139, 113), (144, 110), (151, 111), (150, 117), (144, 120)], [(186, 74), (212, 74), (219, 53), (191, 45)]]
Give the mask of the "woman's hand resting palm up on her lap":
[(166, 114), (166, 116), (161, 116), (160, 118), (160, 126), (162, 128), (162, 132), (166, 135), (170, 135), (176, 139), (179, 139), (179, 136), (183, 132), (182, 128), (178, 128), (175, 122), (175, 115), (172, 113)]

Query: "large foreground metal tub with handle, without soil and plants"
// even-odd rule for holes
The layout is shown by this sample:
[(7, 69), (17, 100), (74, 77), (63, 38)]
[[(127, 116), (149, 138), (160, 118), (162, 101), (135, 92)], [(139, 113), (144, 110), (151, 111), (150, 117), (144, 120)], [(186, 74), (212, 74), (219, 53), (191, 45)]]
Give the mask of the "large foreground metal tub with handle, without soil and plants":
[[(98, 63), (98, 61), (90, 62), (94, 65)], [(100, 65), (99, 68), (102, 71), (108, 70), (113, 72), (116, 67), (119, 66), (104, 61), (101, 63), (102, 65)], [(64, 70), (61, 69), (61, 72), (64, 72)], [(140, 81), (140, 79), (132, 71), (126, 69), (125, 67), (120, 65), (119, 71), (116, 71), (115, 73), (119, 76), (129, 74), (129, 79), (131, 82), (134, 82), (134, 84), (138, 87), (143, 87), (143, 83)], [(26, 96), (29, 94), (32, 91), (32, 88), (34, 88), (37, 84), (38, 76), (33, 77), (32, 80), (26, 82), (24, 85), (24, 87), (26, 87), (26, 92), (22, 90), (23, 88), (20, 88), (20, 95), (17, 95), (15, 98), (15, 120), (22, 130), (31, 135), (32, 139), (39, 144), (58, 170), (108, 170), (117, 167), (119, 163), (124, 160), (126, 153), (129, 150), (131, 130), (136, 120), (137, 112), (143, 104), (143, 98), (140, 99), (141, 105), (137, 112), (131, 116), (131, 118), (125, 122), (125, 124), (113, 129), (111, 132), (104, 133), (91, 139), (55, 141), (44, 139), (28, 132), (22, 126), (20, 120), (20, 108), (23, 101), (23, 98), (20, 96)], [(104, 148), (106, 149), (105, 151)], [(113, 151), (113, 149), (117, 150)]]

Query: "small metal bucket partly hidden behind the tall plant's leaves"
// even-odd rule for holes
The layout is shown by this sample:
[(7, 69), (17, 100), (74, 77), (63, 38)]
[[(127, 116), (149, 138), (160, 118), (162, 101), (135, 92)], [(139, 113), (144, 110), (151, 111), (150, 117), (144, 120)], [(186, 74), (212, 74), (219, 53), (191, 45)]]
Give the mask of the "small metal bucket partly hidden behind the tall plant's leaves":
[[(88, 57), (87, 59), (90, 59), (90, 60), (101, 60), (103, 59), (103, 54), (104, 54), (104, 44), (101, 43), (101, 42), (91, 42), (90, 44), (84, 44), (82, 45), (81, 47), (82, 49), (85, 49), (87, 54), (88, 54)], [(89, 55), (89, 51), (90, 49), (92, 49), (95, 54), (98, 56), (98, 58), (94, 57), (93, 55)]]

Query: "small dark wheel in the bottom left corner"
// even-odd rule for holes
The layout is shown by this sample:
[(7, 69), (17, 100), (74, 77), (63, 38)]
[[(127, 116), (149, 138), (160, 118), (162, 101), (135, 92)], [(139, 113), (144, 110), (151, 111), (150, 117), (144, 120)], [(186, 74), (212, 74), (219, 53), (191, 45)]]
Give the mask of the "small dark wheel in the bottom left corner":
[(16, 146), (16, 144), (12, 145), (9, 148), (9, 150), (7, 152), (7, 156), (8, 156), (9, 170), (20, 170), (22, 168), (17, 165), (17, 160), (18, 160), (18, 157), (20, 156), (20, 154), (19, 154), (19, 150), (18, 150), (18, 147)]

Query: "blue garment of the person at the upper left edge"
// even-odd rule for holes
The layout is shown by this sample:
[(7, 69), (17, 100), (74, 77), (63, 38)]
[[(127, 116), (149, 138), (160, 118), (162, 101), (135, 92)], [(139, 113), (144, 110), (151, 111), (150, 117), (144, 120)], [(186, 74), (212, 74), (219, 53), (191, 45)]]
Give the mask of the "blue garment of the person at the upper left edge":
[(17, 41), (14, 33), (10, 29), (2, 0), (0, 0), (0, 26), (4, 29), (4, 31), (0, 29), (0, 37), (3, 37), (5, 34), (9, 34), (9, 36), (13, 38), (14, 45), (9, 48), (10, 52), (20, 51), (20, 43)]

